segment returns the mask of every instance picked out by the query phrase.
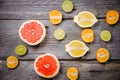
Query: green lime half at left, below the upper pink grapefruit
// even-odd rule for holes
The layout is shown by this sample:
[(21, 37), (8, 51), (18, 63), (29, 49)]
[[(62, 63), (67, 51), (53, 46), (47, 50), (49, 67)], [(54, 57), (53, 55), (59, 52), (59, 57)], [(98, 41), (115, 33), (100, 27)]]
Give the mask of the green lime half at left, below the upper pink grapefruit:
[(15, 48), (15, 53), (19, 56), (23, 56), (25, 55), (27, 52), (27, 48), (26, 46), (20, 44), (20, 45), (17, 45), (16, 48)]

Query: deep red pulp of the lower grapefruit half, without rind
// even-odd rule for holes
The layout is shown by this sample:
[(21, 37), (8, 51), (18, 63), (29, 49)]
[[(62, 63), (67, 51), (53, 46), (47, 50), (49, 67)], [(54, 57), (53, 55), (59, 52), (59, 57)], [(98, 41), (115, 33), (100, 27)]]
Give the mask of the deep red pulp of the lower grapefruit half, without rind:
[(51, 56), (44, 56), (43, 58), (39, 58), (36, 62), (36, 67), (38, 72), (50, 76), (54, 74), (54, 72), (57, 70), (57, 62), (55, 59)]

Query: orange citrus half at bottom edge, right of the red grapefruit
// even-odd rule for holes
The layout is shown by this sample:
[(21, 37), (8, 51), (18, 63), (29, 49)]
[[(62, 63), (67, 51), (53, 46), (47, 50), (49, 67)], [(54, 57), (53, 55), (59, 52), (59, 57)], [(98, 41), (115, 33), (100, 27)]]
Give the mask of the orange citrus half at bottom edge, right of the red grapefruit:
[(76, 67), (70, 67), (67, 69), (67, 77), (70, 80), (77, 80), (78, 78), (78, 69)]

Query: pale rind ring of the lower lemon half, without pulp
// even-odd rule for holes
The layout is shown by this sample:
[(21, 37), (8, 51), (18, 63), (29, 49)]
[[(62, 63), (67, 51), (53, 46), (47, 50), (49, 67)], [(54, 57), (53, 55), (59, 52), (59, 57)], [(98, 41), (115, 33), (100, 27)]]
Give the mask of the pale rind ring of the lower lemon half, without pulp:
[[(85, 49), (84, 53), (82, 53), (82, 54), (80, 54), (80, 55), (77, 55), (77, 56), (73, 55), (73, 54), (70, 52), (70, 48), (69, 48), (69, 45), (70, 45), (71, 43), (73, 43), (73, 42), (79, 42), (79, 43), (83, 44), (84, 49)], [(89, 51), (89, 48), (88, 48), (88, 47), (85, 45), (85, 43), (83, 43), (82, 41), (73, 40), (73, 41), (71, 41), (70, 43), (68, 43), (68, 44), (65, 45), (65, 51), (68, 52), (68, 54), (69, 54), (70, 56), (72, 56), (72, 57), (74, 57), (74, 58), (79, 58), (79, 57), (83, 57), (83, 56)]]

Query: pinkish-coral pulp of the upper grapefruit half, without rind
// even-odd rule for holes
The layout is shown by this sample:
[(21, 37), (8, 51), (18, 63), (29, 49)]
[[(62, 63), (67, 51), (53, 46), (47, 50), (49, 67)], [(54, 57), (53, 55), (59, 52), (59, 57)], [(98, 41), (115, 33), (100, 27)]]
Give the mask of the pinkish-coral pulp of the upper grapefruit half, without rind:
[(22, 36), (30, 43), (35, 43), (43, 35), (43, 29), (41, 24), (37, 22), (26, 23), (21, 30)]

